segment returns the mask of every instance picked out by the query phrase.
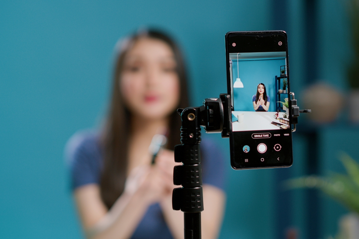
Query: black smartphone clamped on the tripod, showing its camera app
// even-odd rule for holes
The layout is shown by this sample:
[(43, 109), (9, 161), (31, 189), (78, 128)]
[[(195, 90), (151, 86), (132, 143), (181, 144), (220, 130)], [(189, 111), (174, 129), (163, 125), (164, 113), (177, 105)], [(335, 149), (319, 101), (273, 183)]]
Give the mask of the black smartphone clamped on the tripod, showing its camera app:
[(292, 118), (281, 103), (290, 97), (287, 34), (228, 32), (225, 49), (232, 168), (291, 166)]

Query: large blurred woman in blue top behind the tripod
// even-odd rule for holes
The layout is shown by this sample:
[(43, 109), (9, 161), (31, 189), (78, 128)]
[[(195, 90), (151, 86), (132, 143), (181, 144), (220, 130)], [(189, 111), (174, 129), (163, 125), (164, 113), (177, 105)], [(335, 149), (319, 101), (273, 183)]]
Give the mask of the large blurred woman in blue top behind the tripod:
[[(112, 99), (99, 132), (75, 134), (67, 157), (76, 206), (88, 238), (183, 238), (183, 212), (172, 210), (178, 108), (188, 106), (181, 52), (167, 35), (142, 31), (122, 41)], [(151, 165), (155, 134), (168, 138)], [(223, 215), (224, 167), (215, 144), (201, 143), (202, 238), (217, 237)], [(178, 164), (178, 163), (177, 163)]]

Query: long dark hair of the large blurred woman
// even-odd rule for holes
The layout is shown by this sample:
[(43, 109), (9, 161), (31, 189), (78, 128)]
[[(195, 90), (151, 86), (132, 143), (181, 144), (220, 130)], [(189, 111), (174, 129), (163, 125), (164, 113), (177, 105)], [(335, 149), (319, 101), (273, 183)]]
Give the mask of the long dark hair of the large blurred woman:
[(109, 208), (121, 195), (127, 176), (128, 141), (130, 136), (130, 111), (125, 106), (120, 93), (120, 77), (127, 52), (141, 38), (153, 38), (167, 43), (177, 63), (176, 71), (180, 80), (180, 100), (176, 108), (169, 115), (168, 149), (174, 149), (174, 145), (180, 144), (181, 118), (177, 108), (188, 107), (187, 75), (183, 57), (177, 44), (166, 34), (157, 30), (146, 30), (132, 35), (122, 41), (121, 49), (117, 53), (115, 72), (112, 83), (112, 98), (108, 112), (107, 123), (102, 135), (103, 142), (103, 169), (101, 172), (101, 198)]

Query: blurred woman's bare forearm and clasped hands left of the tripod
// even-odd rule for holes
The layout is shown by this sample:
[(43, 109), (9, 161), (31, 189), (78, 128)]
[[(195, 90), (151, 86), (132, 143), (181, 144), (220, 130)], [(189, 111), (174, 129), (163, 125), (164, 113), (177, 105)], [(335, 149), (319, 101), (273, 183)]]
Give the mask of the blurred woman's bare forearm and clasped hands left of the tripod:
[[(111, 211), (107, 211), (103, 204), (98, 185), (76, 189), (76, 202), (88, 238), (129, 238), (149, 205), (164, 199), (171, 201), (173, 164), (174, 153), (166, 150), (155, 165), (132, 169), (126, 179), (125, 190)], [(173, 211), (168, 205), (168, 209)]]

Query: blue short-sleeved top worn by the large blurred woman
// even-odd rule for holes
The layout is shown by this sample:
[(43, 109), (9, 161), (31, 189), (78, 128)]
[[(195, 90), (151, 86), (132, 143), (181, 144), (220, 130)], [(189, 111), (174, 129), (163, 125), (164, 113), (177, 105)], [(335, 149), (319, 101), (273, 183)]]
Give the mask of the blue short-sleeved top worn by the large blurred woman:
[[(202, 181), (224, 189), (225, 168), (223, 155), (210, 140), (200, 144)], [(67, 143), (66, 158), (71, 169), (73, 189), (100, 182), (103, 152), (97, 133), (75, 134)], [(137, 226), (132, 239), (172, 239), (158, 203), (150, 205)]]

